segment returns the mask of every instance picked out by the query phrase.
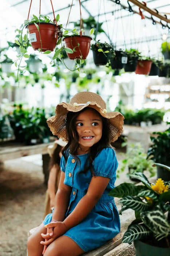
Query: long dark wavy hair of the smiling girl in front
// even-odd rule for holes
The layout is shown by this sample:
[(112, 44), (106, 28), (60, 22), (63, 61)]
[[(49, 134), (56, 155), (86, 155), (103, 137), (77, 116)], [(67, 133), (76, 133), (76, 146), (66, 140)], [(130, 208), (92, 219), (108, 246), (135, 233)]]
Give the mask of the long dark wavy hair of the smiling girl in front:
[[(63, 157), (66, 162), (67, 162), (68, 156), (66, 156), (65, 153), (66, 153), (66, 150), (68, 148), (70, 148), (70, 154), (73, 155), (73, 157), (76, 159), (76, 161), (78, 161), (80, 163), (80, 159), (76, 156), (76, 152), (79, 147), (79, 135), (78, 135), (78, 132), (76, 131), (75, 123), (76, 123), (76, 118), (78, 117), (78, 115), (80, 113), (86, 111), (87, 109), (92, 109), (92, 108), (87, 107), (87, 108), (84, 108), (83, 110), (81, 110), (80, 112), (68, 112), (67, 113), (66, 132), (67, 132), (68, 143), (62, 150), (62, 154), (63, 154)], [(99, 112), (97, 110), (95, 110), (95, 109), (93, 109), (93, 110), (99, 114)], [(100, 115), (100, 117), (102, 118), (102, 124), (103, 124), (102, 137), (97, 143), (95, 143), (90, 148), (89, 157), (88, 157), (88, 161), (87, 161), (88, 164), (86, 162), (85, 169), (83, 170), (83, 173), (87, 172), (87, 170), (90, 169), (91, 173), (94, 175), (94, 170), (92, 169), (92, 162), (94, 161), (95, 157), (100, 153), (100, 151), (103, 148), (112, 147), (110, 145), (111, 135), (110, 135), (110, 130), (108, 128), (107, 119), (102, 117), (101, 115)]]

